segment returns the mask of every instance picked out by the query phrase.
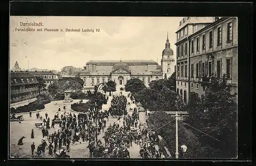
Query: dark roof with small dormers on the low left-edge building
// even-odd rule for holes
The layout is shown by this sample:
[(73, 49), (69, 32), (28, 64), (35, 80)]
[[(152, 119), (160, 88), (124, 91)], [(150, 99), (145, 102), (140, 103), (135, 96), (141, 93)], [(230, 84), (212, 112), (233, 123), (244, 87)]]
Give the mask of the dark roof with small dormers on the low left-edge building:
[(27, 72), (11, 72), (10, 83), (11, 83), (11, 86), (17, 86), (17, 85), (38, 84), (38, 81), (36, 80), (35, 76)]

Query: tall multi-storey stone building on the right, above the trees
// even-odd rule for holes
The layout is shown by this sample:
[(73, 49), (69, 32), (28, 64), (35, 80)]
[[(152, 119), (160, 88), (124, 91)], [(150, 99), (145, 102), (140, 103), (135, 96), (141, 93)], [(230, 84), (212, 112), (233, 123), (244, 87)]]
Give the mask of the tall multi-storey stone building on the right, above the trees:
[(233, 93), (238, 83), (238, 31), (234, 17), (185, 17), (177, 33), (176, 88), (184, 102), (190, 92), (203, 97), (211, 74), (227, 75)]

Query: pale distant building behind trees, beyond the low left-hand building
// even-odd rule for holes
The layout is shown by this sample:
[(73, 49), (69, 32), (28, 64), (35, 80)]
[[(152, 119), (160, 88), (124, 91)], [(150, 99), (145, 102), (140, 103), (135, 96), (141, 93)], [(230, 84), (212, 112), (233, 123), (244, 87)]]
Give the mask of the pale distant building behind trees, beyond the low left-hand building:
[(42, 70), (41, 72), (29, 72), (33, 76), (41, 77), (45, 80), (46, 84), (46, 89), (50, 84), (52, 84), (55, 81), (58, 81), (60, 78), (60, 75), (52, 72), (52, 71), (44, 71)]

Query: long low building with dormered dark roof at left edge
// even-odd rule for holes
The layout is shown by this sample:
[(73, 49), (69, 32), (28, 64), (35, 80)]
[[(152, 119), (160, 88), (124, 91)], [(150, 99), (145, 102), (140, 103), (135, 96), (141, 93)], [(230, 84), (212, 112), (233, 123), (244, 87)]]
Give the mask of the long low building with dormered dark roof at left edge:
[(38, 81), (28, 72), (10, 72), (10, 103), (36, 98)]

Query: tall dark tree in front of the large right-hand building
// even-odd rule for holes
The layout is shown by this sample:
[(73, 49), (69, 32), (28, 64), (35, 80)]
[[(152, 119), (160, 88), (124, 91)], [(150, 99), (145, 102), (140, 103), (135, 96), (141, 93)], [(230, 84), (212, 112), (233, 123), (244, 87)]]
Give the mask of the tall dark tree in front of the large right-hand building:
[[(206, 88), (205, 97), (198, 105), (190, 105), (190, 121), (194, 127), (219, 139), (209, 139), (203, 135), (202, 141), (210, 140), (210, 144), (217, 149), (219, 156), (235, 157), (237, 154), (237, 103), (236, 93), (231, 94), (231, 85), (227, 84), (226, 75), (221, 79), (211, 77)], [(198, 100), (198, 99), (197, 99)]]

